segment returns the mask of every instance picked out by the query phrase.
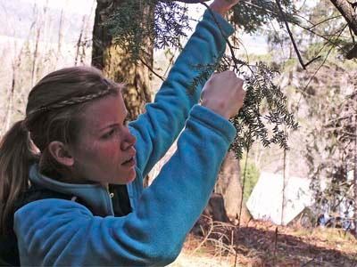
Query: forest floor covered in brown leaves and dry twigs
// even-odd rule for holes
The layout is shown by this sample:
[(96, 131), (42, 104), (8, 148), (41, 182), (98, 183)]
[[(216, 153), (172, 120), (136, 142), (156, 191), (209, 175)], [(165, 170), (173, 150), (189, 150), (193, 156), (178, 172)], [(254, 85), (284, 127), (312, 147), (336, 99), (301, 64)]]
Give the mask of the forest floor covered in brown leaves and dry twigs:
[(357, 239), (341, 229), (250, 222), (234, 234), (232, 225), (210, 224), (203, 237), (187, 236), (170, 266), (235, 266), (236, 247), (236, 266), (357, 266)]

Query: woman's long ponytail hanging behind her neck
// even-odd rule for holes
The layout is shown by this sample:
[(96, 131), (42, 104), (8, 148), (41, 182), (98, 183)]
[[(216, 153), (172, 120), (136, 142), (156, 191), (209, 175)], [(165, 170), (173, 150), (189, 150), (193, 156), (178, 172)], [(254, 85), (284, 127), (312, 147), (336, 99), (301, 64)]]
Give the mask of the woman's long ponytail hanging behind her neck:
[(0, 233), (9, 231), (14, 204), (29, 189), (29, 166), (35, 159), (24, 121), (12, 125), (0, 142)]

